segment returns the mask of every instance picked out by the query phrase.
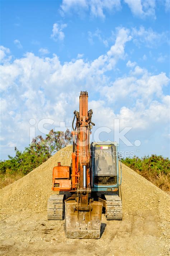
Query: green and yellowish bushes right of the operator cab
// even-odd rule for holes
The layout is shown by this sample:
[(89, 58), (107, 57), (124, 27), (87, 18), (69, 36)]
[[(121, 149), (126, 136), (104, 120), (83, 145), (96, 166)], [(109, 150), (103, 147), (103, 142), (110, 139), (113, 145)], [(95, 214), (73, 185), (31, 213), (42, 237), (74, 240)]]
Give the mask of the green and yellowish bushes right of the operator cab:
[(150, 157), (125, 158), (122, 159), (122, 162), (162, 190), (170, 190), (169, 158), (152, 154)]

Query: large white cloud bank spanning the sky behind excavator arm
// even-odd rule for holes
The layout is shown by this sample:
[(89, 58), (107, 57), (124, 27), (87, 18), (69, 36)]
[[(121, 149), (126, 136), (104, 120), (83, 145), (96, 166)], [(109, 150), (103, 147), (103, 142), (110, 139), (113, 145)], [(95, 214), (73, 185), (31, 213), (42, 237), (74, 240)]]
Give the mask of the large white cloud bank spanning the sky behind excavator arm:
[[(63, 121), (70, 127), (72, 112), (79, 108), (80, 90), (89, 92), (89, 108), (93, 108), (96, 128), (113, 129), (113, 119), (120, 118), (121, 129), (133, 126), (145, 139), (152, 127), (164, 133), (169, 104), (163, 90), (169, 82), (166, 74), (151, 74), (136, 62), (126, 61), (127, 67), (132, 68), (128, 75), (116, 80), (107, 76), (107, 71), (113, 72), (119, 59), (125, 58), (129, 40), (132, 40), (130, 31), (117, 28), (114, 44), (93, 61), (78, 54), (76, 60), (62, 64), (55, 54), (44, 58), (27, 53), (5, 62), (0, 67), (4, 145), (15, 144), (22, 149), (29, 144), (30, 118), (36, 120), (36, 135), (37, 123), (43, 118), (54, 120), (53, 125), (45, 125), (48, 129), (58, 127)], [(5, 58), (4, 52), (9, 54), (9, 49), (1, 49)], [(100, 95), (102, 100), (96, 96), (96, 100), (90, 100), (94, 95)]]

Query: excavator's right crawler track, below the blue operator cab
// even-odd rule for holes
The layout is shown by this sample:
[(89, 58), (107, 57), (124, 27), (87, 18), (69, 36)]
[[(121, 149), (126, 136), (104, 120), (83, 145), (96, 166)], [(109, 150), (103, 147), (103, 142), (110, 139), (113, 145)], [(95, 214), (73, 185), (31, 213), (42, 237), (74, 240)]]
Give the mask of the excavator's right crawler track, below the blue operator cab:
[(106, 219), (122, 220), (122, 200), (119, 196), (106, 196)]

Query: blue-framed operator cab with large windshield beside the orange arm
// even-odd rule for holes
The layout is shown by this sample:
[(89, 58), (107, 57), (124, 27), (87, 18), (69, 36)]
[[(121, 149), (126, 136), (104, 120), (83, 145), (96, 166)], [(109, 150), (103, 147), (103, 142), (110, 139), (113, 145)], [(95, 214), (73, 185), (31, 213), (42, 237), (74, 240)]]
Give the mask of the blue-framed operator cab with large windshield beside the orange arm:
[(91, 190), (93, 192), (117, 191), (122, 181), (120, 165), (119, 182), (119, 145), (116, 142), (91, 143)]

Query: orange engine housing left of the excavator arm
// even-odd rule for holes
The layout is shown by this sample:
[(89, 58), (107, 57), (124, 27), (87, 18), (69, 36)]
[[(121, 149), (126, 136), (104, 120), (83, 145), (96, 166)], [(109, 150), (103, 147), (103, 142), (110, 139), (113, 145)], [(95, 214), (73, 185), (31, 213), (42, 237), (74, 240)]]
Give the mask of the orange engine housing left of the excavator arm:
[(71, 190), (70, 166), (61, 166), (60, 162), (58, 162), (58, 166), (53, 168), (52, 180), (53, 191)]

